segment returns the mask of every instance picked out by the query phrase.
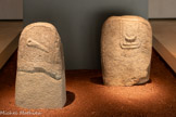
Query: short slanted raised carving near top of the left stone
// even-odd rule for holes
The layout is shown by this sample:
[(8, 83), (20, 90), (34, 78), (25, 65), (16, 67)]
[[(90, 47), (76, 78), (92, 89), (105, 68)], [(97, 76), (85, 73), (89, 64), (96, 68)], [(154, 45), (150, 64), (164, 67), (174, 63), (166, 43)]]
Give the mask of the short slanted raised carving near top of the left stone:
[(40, 49), (40, 50), (42, 50), (42, 51), (49, 53), (48, 48), (46, 48), (46, 47), (42, 46), (41, 43), (39, 43), (39, 42), (37, 42), (37, 41), (35, 41), (35, 40), (33, 40), (33, 39), (30, 39), (30, 38), (27, 39), (27, 46), (28, 46), (28, 47), (34, 47), (34, 48)]

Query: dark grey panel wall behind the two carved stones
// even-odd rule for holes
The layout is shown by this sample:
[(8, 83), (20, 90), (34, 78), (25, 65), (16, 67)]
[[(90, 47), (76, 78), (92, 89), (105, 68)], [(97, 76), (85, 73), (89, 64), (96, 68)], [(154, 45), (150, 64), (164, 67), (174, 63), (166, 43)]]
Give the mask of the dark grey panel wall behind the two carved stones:
[(103, 22), (111, 15), (148, 18), (148, 0), (24, 0), (24, 23), (52, 23), (64, 46), (66, 69), (97, 69)]

